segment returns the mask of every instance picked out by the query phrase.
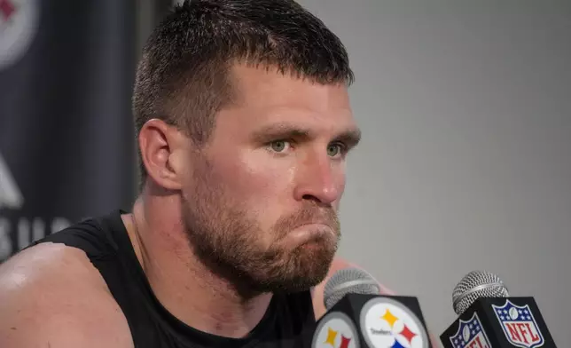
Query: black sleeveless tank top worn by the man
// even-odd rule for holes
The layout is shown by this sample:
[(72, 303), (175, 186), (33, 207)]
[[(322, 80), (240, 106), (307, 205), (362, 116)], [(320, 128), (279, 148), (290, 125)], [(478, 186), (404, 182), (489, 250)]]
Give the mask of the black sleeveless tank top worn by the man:
[(136, 348), (281, 348), (305, 345), (307, 338), (304, 337), (308, 337), (316, 323), (309, 291), (274, 295), (263, 319), (245, 338), (210, 335), (177, 320), (154, 297), (121, 220), (121, 213), (124, 211), (84, 220), (32, 245), (52, 241), (85, 251), (127, 318)]

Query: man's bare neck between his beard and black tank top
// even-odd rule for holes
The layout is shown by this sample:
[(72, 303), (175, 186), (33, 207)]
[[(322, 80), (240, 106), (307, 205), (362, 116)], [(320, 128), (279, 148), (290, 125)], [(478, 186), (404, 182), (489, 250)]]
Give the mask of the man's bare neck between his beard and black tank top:
[(246, 336), (262, 320), (271, 294), (243, 297), (209, 271), (189, 248), (184, 223), (172, 196), (137, 200), (123, 216), (153, 293), (168, 312), (209, 334)]

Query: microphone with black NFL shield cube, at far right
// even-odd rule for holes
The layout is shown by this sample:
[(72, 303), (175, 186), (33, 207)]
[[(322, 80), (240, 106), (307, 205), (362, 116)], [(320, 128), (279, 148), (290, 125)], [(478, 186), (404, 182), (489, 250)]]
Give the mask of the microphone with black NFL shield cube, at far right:
[(458, 319), (440, 336), (444, 348), (556, 348), (534, 298), (510, 297), (496, 274), (466, 274), (452, 305)]

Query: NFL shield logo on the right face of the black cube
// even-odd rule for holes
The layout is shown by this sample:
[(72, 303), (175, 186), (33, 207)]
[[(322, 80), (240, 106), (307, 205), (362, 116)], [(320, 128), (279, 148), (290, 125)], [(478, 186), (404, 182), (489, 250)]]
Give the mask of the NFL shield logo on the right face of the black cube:
[(544, 336), (539, 331), (529, 305), (513, 305), (510, 300), (506, 300), (505, 305), (492, 305), (492, 308), (511, 344), (521, 348), (544, 345)]

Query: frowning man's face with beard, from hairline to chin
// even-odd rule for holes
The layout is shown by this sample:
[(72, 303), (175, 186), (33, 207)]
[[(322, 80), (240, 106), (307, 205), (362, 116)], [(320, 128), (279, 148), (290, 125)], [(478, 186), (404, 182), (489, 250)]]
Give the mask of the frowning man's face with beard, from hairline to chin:
[(199, 257), (253, 291), (309, 289), (340, 238), (345, 160), (358, 130), (344, 85), (233, 69), (237, 100), (189, 154), (184, 224)]

